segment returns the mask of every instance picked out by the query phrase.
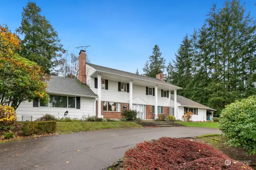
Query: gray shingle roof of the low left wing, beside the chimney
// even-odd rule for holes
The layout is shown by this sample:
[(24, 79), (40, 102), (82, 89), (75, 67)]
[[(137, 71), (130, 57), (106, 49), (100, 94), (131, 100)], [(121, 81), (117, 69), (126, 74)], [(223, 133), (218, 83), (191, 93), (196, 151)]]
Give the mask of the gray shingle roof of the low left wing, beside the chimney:
[(51, 79), (47, 81), (48, 93), (75, 95), (83, 97), (97, 97), (97, 95), (90, 89), (88, 85), (83, 85), (78, 79), (71, 79), (52, 75)]

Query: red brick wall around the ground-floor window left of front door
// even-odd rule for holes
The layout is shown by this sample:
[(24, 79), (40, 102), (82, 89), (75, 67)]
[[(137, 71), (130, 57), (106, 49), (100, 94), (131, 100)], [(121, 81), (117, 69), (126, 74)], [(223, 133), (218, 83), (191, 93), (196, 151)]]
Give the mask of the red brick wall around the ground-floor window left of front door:
[[(121, 112), (103, 111), (103, 102), (101, 101), (101, 115), (104, 119), (122, 119), (121, 113), (125, 110), (124, 106), (126, 106), (126, 109), (129, 109), (129, 103), (121, 103)], [(98, 101), (96, 101), (96, 116), (98, 116)]]

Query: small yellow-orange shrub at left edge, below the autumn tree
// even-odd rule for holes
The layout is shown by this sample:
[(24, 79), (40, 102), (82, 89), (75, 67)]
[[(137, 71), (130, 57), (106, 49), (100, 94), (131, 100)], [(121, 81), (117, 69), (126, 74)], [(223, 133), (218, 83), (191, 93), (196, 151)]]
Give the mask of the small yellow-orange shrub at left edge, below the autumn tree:
[(14, 125), (17, 119), (16, 112), (12, 107), (0, 105), (0, 126)]

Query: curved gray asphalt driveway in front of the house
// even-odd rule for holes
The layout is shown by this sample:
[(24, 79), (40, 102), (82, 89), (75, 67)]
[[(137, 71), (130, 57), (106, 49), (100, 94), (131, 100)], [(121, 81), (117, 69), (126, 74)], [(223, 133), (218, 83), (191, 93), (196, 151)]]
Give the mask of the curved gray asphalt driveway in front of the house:
[(161, 127), (26, 138), (0, 144), (0, 170), (101, 170), (144, 140), (216, 133), (220, 133), (216, 128)]

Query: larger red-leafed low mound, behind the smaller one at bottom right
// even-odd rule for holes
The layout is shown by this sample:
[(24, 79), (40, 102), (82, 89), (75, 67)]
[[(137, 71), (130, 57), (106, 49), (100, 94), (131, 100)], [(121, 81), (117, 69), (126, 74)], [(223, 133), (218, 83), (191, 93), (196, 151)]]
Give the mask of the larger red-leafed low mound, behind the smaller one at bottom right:
[[(188, 170), (189, 166), (194, 166), (192, 162), (203, 158), (219, 159), (219, 164), (224, 164), (223, 160), (231, 160), (208, 144), (188, 139), (163, 137), (151, 142), (142, 142), (127, 150), (124, 155), (124, 168), (127, 170), (185, 170), (184, 168), (187, 168)], [(210, 169), (207, 167), (208, 165), (204, 170)], [(237, 170), (240, 169), (241, 167)], [(197, 168), (191, 168), (191, 170), (197, 170)]]

